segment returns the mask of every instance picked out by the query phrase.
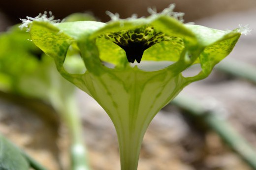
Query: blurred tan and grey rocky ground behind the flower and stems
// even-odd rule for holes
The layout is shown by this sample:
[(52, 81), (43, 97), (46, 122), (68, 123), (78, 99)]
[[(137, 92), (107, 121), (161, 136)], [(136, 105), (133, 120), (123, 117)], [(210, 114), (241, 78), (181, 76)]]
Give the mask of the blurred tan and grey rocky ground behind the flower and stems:
[[(195, 24), (220, 29), (249, 24), (254, 29), (252, 34), (242, 36), (228, 58), (256, 64), (255, 17), (256, 9), (251, 9), (203, 18)], [(186, 87), (182, 94), (221, 108), (221, 116), (256, 147), (254, 84), (215, 70), (209, 78)], [(92, 170), (119, 170), (118, 143), (112, 122), (84, 92), (78, 91), (77, 99)], [(67, 133), (53, 116), (54, 113), (50, 112), (48, 116), (42, 114), (38, 112), (38, 107), (23, 105), (17, 97), (0, 95), (0, 133), (25, 148), (49, 170), (64, 169), (68, 164), (66, 153), (62, 151), (68, 145)], [(138, 170), (251, 169), (214, 131), (202, 129), (187, 114), (168, 106), (157, 114), (149, 126)]]

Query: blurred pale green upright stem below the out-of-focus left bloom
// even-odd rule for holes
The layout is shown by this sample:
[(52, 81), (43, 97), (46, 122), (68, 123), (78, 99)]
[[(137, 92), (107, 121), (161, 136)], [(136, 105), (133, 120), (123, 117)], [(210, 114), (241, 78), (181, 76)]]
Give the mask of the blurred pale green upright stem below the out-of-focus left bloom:
[[(56, 97), (58, 95), (53, 96)], [(68, 131), (71, 135), (71, 170), (89, 170), (87, 151), (83, 144), (82, 138), (82, 122), (79, 118), (79, 112), (76, 105), (75, 95), (71, 94), (69, 96), (61, 98), (61, 100), (56, 99), (54, 101), (58, 101), (58, 103), (55, 103), (55, 108), (57, 108), (57, 111), (61, 114), (61, 117), (64, 119), (64, 123), (66, 124)]]

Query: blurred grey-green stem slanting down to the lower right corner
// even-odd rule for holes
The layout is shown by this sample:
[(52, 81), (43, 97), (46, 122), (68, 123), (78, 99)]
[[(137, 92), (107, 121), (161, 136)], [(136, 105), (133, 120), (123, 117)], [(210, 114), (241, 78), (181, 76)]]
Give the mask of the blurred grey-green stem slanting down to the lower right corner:
[(176, 105), (195, 117), (202, 118), (249, 166), (256, 170), (256, 152), (233, 127), (215, 110), (207, 110), (200, 102), (184, 97), (176, 97), (171, 104)]

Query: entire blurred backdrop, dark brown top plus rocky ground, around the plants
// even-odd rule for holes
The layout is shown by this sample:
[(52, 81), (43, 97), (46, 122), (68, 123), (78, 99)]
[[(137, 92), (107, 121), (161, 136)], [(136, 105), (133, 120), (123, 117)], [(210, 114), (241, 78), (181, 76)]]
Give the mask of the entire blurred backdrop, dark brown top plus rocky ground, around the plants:
[[(56, 19), (74, 12), (89, 12), (107, 22), (106, 10), (119, 13), (120, 18), (134, 13), (141, 17), (149, 15), (148, 7), (161, 11), (170, 3), (176, 3), (176, 12), (185, 13), (185, 23), (224, 30), (249, 24), (252, 34), (243, 35), (228, 58), (256, 65), (256, 0), (0, 0), (0, 31), (20, 23), (20, 18), (35, 17), (44, 11), (52, 11)], [(253, 83), (214, 70), (209, 78), (189, 85), (182, 94), (219, 108), (220, 116), (256, 147), (256, 86)], [(42, 109), (23, 105), (19, 98), (14, 98), (0, 95), (0, 133), (25, 148), (49, 170), (65, 169), (68, 158), (63, 150), (69, 140), (58, 117), (42, 116)], [(84, 92), (77, 90), (77, 101), (92, 170), (118, 170), (118, 143), (110, 119)], [(48, 107), (45, 112), (53, 111)], [(138, 170), (252, 168), (216, 132), (177, 107), (168, 106), (155, 117), (145, 135)]]

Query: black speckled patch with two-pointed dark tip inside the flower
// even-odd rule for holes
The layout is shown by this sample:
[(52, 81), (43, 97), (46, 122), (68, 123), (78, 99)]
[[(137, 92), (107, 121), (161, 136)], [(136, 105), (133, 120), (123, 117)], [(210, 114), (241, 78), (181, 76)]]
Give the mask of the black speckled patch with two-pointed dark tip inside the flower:
[(164, 33), (157, 31), (153, 27), (141, 27), (132, 30), (122, 30), (100, 35), (105, 39), (110, 39), (115, 44), (125, 50), (128, 62), (133, 63), (135, 60), (140, 63), (145, 50), (154, 44), (162, 41), (169, 41), (176, 37), (169, 37)]

